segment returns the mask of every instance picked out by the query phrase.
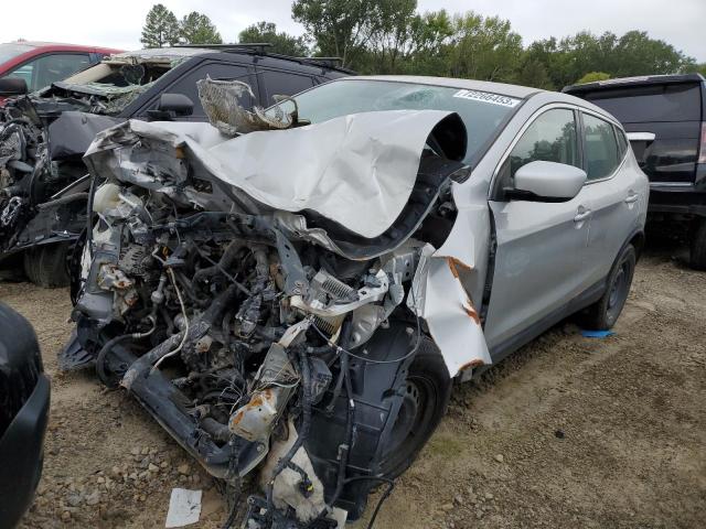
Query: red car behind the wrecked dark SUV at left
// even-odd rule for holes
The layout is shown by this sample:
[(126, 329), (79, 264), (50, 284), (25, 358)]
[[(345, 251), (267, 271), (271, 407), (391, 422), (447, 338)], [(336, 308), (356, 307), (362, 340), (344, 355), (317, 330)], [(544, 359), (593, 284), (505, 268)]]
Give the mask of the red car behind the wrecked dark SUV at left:
[[(24, 79), (28, 91), (35, 91), (100, 62), (106, 55), (120, 52), (110, 47), (51, 42), (10, 42), (0, 44), (0, 78)], [(3, 99), (0, 95), (0, 102)]]

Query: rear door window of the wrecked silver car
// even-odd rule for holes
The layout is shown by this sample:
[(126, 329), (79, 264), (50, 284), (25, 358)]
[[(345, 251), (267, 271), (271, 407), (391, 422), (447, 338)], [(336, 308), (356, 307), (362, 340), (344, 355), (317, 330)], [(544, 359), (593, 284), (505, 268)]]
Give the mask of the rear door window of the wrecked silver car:
[(621, 156), (613, 126), (595, 116), (584, 115), (584, 145), (588, 180), (610, 176)]

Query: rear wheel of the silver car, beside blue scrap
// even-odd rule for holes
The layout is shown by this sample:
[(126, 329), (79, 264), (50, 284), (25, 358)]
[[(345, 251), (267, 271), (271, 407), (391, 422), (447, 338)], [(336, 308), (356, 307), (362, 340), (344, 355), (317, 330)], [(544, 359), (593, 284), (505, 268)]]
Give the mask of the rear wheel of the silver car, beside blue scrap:
[(618, 256), (608, 276), (606, 293), (586, 310), (581, 319), (586, 328), (608, 331), (616, 324), (630, 293), (637, 260), (634, 247), (628, 245)]

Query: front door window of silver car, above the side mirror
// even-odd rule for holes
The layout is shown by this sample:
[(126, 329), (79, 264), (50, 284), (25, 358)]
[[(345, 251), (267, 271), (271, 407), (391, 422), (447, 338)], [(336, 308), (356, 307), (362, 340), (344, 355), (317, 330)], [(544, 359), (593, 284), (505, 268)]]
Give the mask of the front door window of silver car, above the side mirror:
[(523, 165), (535, 161), (580, 166), (573, 110), (547, 110), (532, 122), (510, 153), (510, 177)]

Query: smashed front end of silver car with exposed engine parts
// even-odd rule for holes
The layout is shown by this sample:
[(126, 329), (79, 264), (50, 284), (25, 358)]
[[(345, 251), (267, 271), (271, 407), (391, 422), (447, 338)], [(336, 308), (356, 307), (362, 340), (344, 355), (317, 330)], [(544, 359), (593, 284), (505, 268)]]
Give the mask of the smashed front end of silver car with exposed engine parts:
[(212, 475), (232, 485), (257, 475), (248, 527), (359, 518), (448, 400), (449, 371), (411, 284), (429, 242), (452, 227), (450, 179), (462, 164), (417, 153), (406, 202), (388, 204), (389, 225), (364, 237), (364, 219), (320, 213), (330, 202), (276, 207), (284, 198), (263, 173), (244, 192), (199, 147), (133, 122), (151, 132), (136, 139), (128, 127), (88, 155), (106, 180), (76, 262), (81, 346), (67, 346), (63, 365), (95, 360), (105, 384), (130, 391)]

